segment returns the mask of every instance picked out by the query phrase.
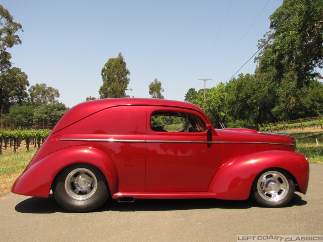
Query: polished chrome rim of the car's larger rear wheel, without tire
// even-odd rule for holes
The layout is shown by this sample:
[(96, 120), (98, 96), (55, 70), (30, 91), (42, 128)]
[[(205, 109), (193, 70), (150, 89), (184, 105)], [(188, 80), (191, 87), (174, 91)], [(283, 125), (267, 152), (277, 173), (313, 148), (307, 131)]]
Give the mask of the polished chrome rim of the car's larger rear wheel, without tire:
[(72, 170), (65, 179), (67, 194), (78, 201), (92, 197), (97, 188), (97, 180), (92, 171), (86, 168)]

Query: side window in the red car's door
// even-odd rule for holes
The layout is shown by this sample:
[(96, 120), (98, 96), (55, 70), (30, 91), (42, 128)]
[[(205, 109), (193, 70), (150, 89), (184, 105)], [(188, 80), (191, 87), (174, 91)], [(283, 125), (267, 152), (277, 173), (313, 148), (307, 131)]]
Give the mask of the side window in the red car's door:
[(204, 132), (206, 129), (198, 116), (183, 112), (153, 112), (150, 125), (155, 132)]

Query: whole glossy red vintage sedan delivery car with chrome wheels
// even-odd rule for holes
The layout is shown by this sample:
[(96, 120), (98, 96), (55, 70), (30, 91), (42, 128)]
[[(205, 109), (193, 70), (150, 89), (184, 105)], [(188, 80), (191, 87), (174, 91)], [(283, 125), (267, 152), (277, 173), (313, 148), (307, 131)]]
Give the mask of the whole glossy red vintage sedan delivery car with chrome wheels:
[(282, 134), (216, 130), (191, 103), (116, 98), (71, 108), (38, 150), (12, 192), (48, 197), (86, 212), (112, 196), (212, 198), (281, 207), (306, 193), (307, 159)]

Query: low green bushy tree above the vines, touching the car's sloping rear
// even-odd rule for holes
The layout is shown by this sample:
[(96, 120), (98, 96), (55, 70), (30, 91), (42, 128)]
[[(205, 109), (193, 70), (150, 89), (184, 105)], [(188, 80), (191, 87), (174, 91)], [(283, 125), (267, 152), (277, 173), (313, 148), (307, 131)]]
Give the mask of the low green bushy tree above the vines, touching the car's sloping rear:
[(34, 123), (56, 124), (69, 108), (64, 103), (54, 101), (34, 109)]

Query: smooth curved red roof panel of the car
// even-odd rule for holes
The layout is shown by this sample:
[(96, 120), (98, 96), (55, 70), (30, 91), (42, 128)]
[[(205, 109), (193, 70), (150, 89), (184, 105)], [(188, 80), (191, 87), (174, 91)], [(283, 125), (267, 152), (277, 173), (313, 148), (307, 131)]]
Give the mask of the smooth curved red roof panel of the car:
[(195, 104), (174, 101), (167, 99), (157, 99), (157, 98), (106, 98), (97, 99), (82, 102), (75, 105), (60, 119), (59, 123), (53, 128), (52, 133), (56, 133), (65, 127), (74, 124), (80, 119), (83, 119), (95, 112), (101, 111), (106, 108), (114, 106), (125, 106), (125, 105), (152, 105), (152, 106), (170, 106), (170, 107), (182, 107), (196, 110), (203, 113), (202, 109)]

